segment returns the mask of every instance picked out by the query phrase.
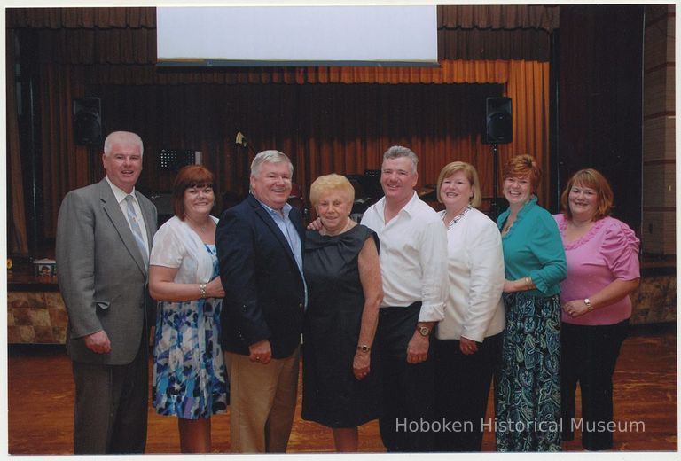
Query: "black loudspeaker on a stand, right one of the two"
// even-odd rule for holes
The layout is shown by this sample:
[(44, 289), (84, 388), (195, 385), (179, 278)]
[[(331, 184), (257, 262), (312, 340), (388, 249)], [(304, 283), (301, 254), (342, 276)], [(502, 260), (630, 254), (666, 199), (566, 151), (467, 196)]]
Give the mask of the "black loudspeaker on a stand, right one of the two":
[(485, 108), (486, 123), (484, 142), (485, 144), (492, 145), (493, 162), (492, 205), (489, 215), (496, 221), (497, 216), (499, 215), (499, 206), (497, 203), (499, 152), (497, 146), (513, 141), (513, 107), (511, 98), (493, 97), (487, 98), (485, 101)]

